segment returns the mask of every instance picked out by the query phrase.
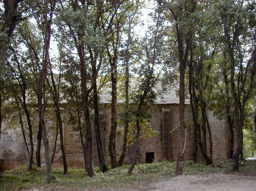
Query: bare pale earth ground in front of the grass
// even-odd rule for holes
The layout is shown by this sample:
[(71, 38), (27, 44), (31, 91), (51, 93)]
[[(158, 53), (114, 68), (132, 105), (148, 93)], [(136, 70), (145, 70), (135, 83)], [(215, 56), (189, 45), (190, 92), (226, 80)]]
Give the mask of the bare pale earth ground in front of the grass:
[(126, 185), (121, 188), (68, 188), (62, 186), (42, 186), (24, 191), (256, 191), (256, 177), (234, 174), (189, 175), (166, 178), (158, 182)]

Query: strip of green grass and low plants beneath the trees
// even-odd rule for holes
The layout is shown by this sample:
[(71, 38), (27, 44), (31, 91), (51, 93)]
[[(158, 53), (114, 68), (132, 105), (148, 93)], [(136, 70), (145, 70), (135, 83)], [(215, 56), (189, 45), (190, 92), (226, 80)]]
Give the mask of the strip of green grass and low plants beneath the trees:
[[(242, 175), (255, 174), (255, 161), (243, 161), (239, 172), (233, 172), (232, 161), (217, 161), (214, 165), (194, 164), (191, 161), (184, 163), (183, 174), (209, 174), (209, 173), (238, 173)], [(121, 187), (127, 184), (136, 185), (137, 182), (159, 181), (166, 177), (175, 176), (175, 162), (164, 160), (159, 163), (137, 164), (132, 175), (127, 175), (129, 166), (110, 169), (101, 173), (95, 169), (95, 176), (90, 178), (84, 169), (69, 169), (67, 175), (63, 175), (62, 168), (53, 169), (52, 175), (56, 178), (48, 186), (67, 186), (68, 188), (108, 188)], [(0, 177), (0, 190), (21, 190), (34, 186), (46, 185), (46, 174), (43, 168), (33, 167), (28, 172), (27, 167), (6, 171)]]

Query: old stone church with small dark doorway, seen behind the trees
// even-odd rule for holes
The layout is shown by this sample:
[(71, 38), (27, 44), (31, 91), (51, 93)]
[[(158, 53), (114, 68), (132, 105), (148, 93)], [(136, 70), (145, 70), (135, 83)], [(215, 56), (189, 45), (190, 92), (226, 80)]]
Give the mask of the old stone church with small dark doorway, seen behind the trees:
[[(156, 90), (161, 89), (157, 87)], [(140, 140), (139, 149), (139, 163), (146, 162), (160, 162), (163, 159), (168, 161), (176, 161), (178, 155), (178, 149), (180, 146), (181, 136), (179, 134), (171, 134), (170, 132), (179, 125), (179, 104), (177, 96), (177, 86), (169, 88), (167, 92), (163, 92), (157, 97), (155, 102), (155, 110), (153, 111), (153, 120), (151, 127), (153, 130), (159, 132), (157, 136)], [(100, 128), (101, 138), (104, 146), (105, 160), (107, 164), (110, 164), (109, 153), (108, 153), (108, 141), (111, 126), (111, 106), (109, 100), (111, 99), (110, 94), (100, 94), (101, 108), (100, 111)], [(119, 101), (121, 102), (121, 101)], [(189, 101), (186, 100), (187, 107)], [(84, 168), (85, 164), (83, 161), (83, 149), (81, 146), (80, 135), (78, 131), (73, 131), (67, 123), (69, 106), (67, 103), (61, 104), (62, 108), (62, 119), (63, 119), (63, 134), (64, 134), (64, 145), (66, 150), (67, 164), (69, 168)], [(93, 113), (93, 112), (92, 112)], [(187, 113), (187, 109), (186, 109)], [(223, 160), (228, 155), (228, 127), (227, 123), (222, 120), (218, 120), (213, 116), (212, 112), (208, 112), (209, 123), (212, 133), (213, 141), (213, 160)], [(48, 131), (48, 139), (50, 143), (50, 157), (52, 157), (54, 142), (55, 142), (55, 130), (56, 123), (54, 122), (54, 113), (47, 112), (45, 122)], [(38, 116), (33, 117), (33, 137), (34, 137), (34, 150), (36, 149), (36, 135), (38, 128)], [(92, 127), (93, 128), (93, 127)], [(50, 130), (52, 129), (52, 130)], [(207, 135), (208, 136), (208, 135)], [(28, 135), (27, 135), (28, 139)], [(62, 155), (60, 150), (59, 136), (57, 141), (55, 158), (53, 161), (53, 167), (62, 166)], [(28, 141), (29, 142), (29, 141)], [(184, 160), (192, 159), (191, 150), (191, 128), (188, 127), (188, 136), (186, 151)], [(96, 141), (94, 137), (94, 165), (98, 165), (98, 156)], [(209, 146), (209, 143), (208, 143)], [(117, 133), (116, 137), (116, 149), (117, 159), (122, 151), (122, 137), (120, 133)], [(209, 152), (208, 152), (209, 153)], [(133, 160), (134, 145), (130, 145), (127, 149), (126, 158), (124, 164), (129, 164)], [(35, 152), (34, 152), (35, 155)], [(25, 148), (25, 144), (22, 138), (19, 124), (17, 128), (6, 129), (5, 125), (2, 126), (1, 140), (0, 140), (0, 158), (2, 159), (2, 170), (8, 170), (16, 168), (21, 165), (28, 164), (28, 154)], [(200, 161), (201, 154), (198, 148), (198, 160)], [(34, 159), (35, 160), (35, 159)], [(41, 146), (41, 160), (44, 163), (44, 146)]]

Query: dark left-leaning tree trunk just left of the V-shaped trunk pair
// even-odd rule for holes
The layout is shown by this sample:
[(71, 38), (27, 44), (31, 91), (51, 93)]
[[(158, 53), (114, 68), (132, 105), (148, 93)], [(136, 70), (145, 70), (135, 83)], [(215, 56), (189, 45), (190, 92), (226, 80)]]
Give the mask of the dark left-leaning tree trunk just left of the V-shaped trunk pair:
[(98, 151), (97, 153), (99, 156), (99, 166), (100, 166), (101, 172), (106, 172), (108, 170), (108, 167), (105, 162), (101, 135), (100, 135), (100, 114), (99, 114), (98, 93), (97, 93), (96, 83), (93, 88), (93, 93), (94, 93), (95, 136), (96, 136), (96, 145), (97, 145), (97, 151)]

